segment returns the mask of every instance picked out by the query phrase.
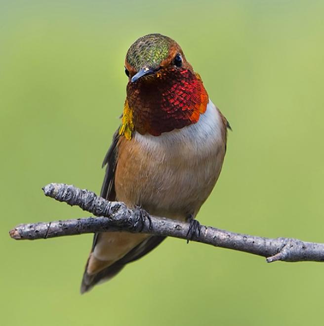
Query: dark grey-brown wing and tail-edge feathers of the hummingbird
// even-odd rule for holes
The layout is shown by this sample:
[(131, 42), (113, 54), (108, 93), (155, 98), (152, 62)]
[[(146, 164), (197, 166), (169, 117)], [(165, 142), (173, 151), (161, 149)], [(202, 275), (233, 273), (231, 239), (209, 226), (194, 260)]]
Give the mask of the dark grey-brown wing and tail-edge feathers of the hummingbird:
[[(115, 192), (115, 172), (118, 161), (118, 140), (120, 138), (118, 130), (113, 136), (113, 142), (105, 156), (102, 166), (106, 166), (106, 174), (101, 187), (100, 196), (109, 200), (116, 200)], [(95, 233), (93, 237), (92, 249), (94, 250), (98, 240), (100, 239), (100, 233)], [(104, 268), (96, 274), (89, 275), (87, 271), (88, 261), (85, 266), (85, 271), (83, 273), (82, 283), (81, 283), (81, 293), (90, 290), (98, 282), (103, 282), (111, 279), (116, 274), (118, 274), (122, 268), (134, 260), (141, 258), (146, 255), (148, 252), (153, 250), (157, 245), (159, 245), (165, 237), (152, 236), (145, 239), (140, 244), (132, 248), (128, 253), (126, 253), (120, 260), (114, 262), (112, 265)]]

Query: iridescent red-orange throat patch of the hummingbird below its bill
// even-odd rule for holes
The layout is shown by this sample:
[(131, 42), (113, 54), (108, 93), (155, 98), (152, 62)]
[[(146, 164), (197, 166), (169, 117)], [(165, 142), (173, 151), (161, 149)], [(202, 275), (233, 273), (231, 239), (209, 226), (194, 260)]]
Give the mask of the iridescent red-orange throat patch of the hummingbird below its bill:
[(160, 71), (152, 80), (127, 84), (120, 133), (161, 135), (196, 123), (205, 112), (208, 94), (190, 70)]

